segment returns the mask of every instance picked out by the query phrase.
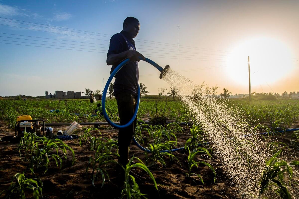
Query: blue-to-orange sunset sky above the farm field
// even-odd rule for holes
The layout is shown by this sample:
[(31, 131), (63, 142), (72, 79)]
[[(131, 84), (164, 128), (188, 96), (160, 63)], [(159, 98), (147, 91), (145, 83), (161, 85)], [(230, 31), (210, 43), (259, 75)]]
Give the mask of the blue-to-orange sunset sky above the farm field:
[[(109, 39), (127, 16), (140, 21), (140, 53), (197, 84), (248, 93), (250, 56), (251, 92), (298, 92), (298, 10), (295, 0), (0, 0), (0, 96), (102, 90)], [(139, 74), (151, 94), (171, 86), (146, 62)]]

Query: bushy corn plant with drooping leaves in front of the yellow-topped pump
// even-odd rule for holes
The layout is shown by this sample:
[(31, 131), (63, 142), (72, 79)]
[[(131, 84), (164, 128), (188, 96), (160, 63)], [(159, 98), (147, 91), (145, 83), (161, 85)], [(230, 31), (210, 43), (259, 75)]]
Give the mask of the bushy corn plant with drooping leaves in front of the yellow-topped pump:
[[(75, 162), (75, 152), (70, 146), (65, 144), (60, 139), (48, 141), (47, 144), (43, 148), (36, 149), (34, 151), (34, 156), (31, 156), (30, 164), (29, 164), (31, 173), (34, 174), (34, 170), (39, 169), (40, 167), (44, 167), (45, 168), (44, 173), (46, 173), (48, 171), (48, 166), (50, 165), (49, 158), (53, 158), (55, 160), (57, 167), (60, 167), (60, 169), (61, 169), (62, 168), (62, 159), (58, 155), (58, 151), (59, 150), (62, 151), (64, 158), (67, 159), (67, 149), (72, 152), (73, 159), (72, 159), (71, 164), (73, 165)], [(57, 154), (50, 154), (54, 150), (57, 152)], [(57, 159), (60, 162), (60, 166), (58, 165)]]

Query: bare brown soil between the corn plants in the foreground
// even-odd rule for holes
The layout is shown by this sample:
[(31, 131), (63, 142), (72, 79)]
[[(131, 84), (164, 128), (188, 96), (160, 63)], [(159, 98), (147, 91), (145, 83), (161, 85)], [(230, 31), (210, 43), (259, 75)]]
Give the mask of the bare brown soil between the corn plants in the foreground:
[[(0, 124), (0, 137), (4, 135), (14, 135), (14, 132), (7, 129), (3, 123)], [(297, 124), (298, 125), (298, 124)], [(93, 126), (89, 126), (93, 127)], [(295, 127), (295, 126), (294, 126)], [(54, 127), (54, 132), (65, 129), (63, 127)], [(189, 138), (190, 130), (184, 127), (185, 132), (178, 135), (178, 146), (184, 146), (185, 141)], [(84, 130), (77, 131), (83, 133)], [(100, 127), (101, 137), (117, 139), (118, 129), (113, 129), (108, 125)], [(100, 137), (99, 133), (94, 130), (90, 132), (92, 136)], [(281, 136), (283, 142), (289, 141), (289, 134)], [(110, 181), (106, 179), (105, 185), (101, 187), (102, 180), (95, 181), (94, 188), (91, 185), (91, 169), (87, 178), (85, 177), (86, 166), (89, 157), (94, 157), (94, 151), (90, 151), (90, 145), (79, 146), (78, 139), (64, 141), (75, 151), (76, 161), (71, 166), (71, 157), (63, 160), (63, 166), (60, 170), (55, 163), (51, 163), (48, 172), (43, 174), (37, 172), (36, 178), (40, 178), (44, 184), (44, 198), (120, 198), (120, 188), (117, 184), (117, 173), (115, 165), (108, 169)], [(18, 144), (9, 142), (0, 142), (0, 190), (7, 189), (10, 185), (13, 175), (25, 172), (27, 178), (34, 178), (27, 169), (28, 164), (22, 162), (19, 153), (15, 150)], [(188, 152), (187, 152), (188, 153)], [(297, 151), (298, 153), (298, 151)], [(210, 163), (216, 169), (216, 182), (213, 182), (213, 173), (208, 167), (194, 168), (194, 172), (203, 177), (205, 184), (202, 184), (199, 177), (192, 176), (187, 178), (185, 173), (188, 172), (187, 154), (184, 152), (175, 152), (174, 155), (179, 159), (181, 166), (165, 158), (167, 167), (157, 166), (150, 168), (158, 184), (159, 192), (153, 186), (149, 176), (141, 169), (134, 169), (133, 172), (138, 176), (135, 178), (141, 193), (148, 194), (147, 198), (236, 198), (237, 190), (230, 186), (225, 175), (223, 175), (224, 166), (215, 156), (211, 160), (198, 155), (198, 160), (204, 160)], [(140, 158), (145, 163), (144, 152), (132, 144), (130, 146), (130, 157)], [(298, 181), (298, 179), (297, 179)], [(2, 195), (3, 197), (4, 195)], [(26, 195), (30, 198), (30, 194)]]

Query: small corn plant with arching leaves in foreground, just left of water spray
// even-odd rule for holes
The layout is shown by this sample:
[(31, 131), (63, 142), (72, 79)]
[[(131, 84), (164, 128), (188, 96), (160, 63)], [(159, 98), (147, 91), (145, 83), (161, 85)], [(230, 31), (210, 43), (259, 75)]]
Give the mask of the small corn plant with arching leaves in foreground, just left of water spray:
[(204, 147), (199, 147), (199, 148), (194, 149), (193, 151), (190, 152), (190, 150), (188, 148), (188, 151), (189, 151), (189, 155), (188, 155), (188, 169), (189, 169), (189, 172), (186, 173), (186, 176), (191, 177), (191, 175), (195, 174), (199, 177), (200, 181), (202, 181), (202, 183), (204, 183), (201, 175), (191, 172), (191, 169), (192, 169), (193, 166), (196, 166), (198, 168), (199, 164), (203, 164), (205, 166), (208, 166), (211, 169), (211, 171), (214, 174), (214, 182), (215, 182), (216, 181), (216, 172), (215, 172), (215, 169), (213, 168), (213, 166), (210, 165), (209, 163), (204, 162), (204, 161), (195, 161), (194, 160), (195, 156), (198, 153), (207, 154), (211, 158), (211, 155), (210, 155), (208, 149), (206, 149)]

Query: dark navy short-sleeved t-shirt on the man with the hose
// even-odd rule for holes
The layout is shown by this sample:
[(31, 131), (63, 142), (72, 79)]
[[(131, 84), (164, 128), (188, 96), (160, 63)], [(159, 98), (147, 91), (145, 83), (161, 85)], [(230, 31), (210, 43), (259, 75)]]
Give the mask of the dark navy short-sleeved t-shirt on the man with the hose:
[[(107, 57), (111, 54), (119, 54), (126, 50), (136, 50), (135, 42), (129, 37), (129, 33), (121, 31), (111, 37)], [(111, 67), (110, 74), (119, 64), (120, 63)], [(115, 82), (113, 86), (114, 94), (129, 92), (132, 95), (137, 96), (138, 77), (138, 62), (130, 61), (115, 75)]]

